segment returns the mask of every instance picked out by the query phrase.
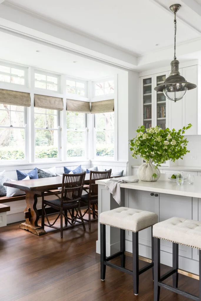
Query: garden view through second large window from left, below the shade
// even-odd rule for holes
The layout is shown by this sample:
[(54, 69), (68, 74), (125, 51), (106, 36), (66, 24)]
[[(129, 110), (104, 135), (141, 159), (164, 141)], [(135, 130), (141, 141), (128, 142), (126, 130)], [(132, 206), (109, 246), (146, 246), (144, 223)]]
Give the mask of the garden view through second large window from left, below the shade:
[(35, 158), (58, 158), (59, 111), (34, 108)]

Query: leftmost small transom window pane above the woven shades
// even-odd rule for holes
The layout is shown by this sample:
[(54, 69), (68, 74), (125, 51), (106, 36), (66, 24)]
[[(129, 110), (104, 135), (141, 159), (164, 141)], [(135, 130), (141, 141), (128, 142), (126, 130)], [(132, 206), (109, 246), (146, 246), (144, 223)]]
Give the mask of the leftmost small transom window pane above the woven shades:
[(22, 69), (0, 65), (0, 82), (25, 85), (25, 72)]

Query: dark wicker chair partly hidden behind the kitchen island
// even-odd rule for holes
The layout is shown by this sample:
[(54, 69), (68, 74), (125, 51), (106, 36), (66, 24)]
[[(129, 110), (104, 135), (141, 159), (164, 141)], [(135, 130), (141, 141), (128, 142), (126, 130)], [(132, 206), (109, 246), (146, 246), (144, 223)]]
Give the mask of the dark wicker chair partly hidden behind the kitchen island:
[[(98, 218), (98, 213), (95, 210), (95, 205), (98, 207), (98, 185), (95, 184), (96, 180), (108, 179), (111, 176), (111, 169), (107, 171), (90, 171), (90, 183), (88, 187), (84, 188), (87, 194), (83, 194), (81, 197), (81, 202), (87, 205), (85, 214), (89, 213), (89, 219), (84, 219), (84, 221), (89, 222), (89, 229), (91, 229), (91, 210), (93, 213), (93, 220)], [(96, 218), (97, 217), (97, 218)]]

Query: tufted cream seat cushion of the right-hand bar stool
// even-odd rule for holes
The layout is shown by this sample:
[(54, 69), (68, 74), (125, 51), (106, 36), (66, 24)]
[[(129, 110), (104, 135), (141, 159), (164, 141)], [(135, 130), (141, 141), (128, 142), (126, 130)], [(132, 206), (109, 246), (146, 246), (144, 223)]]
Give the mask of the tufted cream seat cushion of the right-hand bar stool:
[(192, 248), (201, 248), (201, 222), (172, 217), (153, 226), (153, 236)]

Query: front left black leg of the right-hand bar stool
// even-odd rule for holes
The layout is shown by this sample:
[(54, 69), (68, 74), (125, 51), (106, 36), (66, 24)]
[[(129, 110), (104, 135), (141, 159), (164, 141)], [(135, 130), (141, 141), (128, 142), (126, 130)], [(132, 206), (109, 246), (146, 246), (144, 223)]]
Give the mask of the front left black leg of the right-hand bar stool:
[(160, 239), (154, 237), (154, 301), (159, 301), (160, 298), (160, 275)]

